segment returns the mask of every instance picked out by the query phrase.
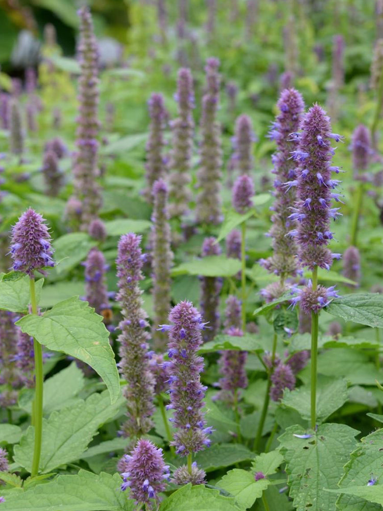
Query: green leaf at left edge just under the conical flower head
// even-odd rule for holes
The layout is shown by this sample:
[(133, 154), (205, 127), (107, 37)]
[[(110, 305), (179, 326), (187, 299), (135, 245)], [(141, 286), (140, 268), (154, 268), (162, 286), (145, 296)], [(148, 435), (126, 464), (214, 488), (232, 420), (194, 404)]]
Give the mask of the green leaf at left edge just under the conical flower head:
[[(11, 272), (2, 276), (0, 281), (0, 309), (12, 312), (28, 311), (28, 306), (31, 303), (30, 278), (28, 275), (19, 278), (19, 273)], [(16, 280), (13, 279), (13, 276), (16, 277)], [(40, 278), (35, 284), (37, 302), (40, 300), (43, 282), (44, 279)]]

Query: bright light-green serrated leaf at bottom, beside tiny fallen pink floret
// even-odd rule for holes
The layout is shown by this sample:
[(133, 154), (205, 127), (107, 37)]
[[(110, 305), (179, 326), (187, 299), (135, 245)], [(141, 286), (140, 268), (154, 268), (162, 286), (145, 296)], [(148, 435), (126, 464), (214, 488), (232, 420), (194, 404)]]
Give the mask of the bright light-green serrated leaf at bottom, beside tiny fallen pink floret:
[(255, 480), (254, 474), (242, 469), (230, 470), (217, 486), (232, 495), (243, 508), (251, 507), (269, 486), (268, 479)]

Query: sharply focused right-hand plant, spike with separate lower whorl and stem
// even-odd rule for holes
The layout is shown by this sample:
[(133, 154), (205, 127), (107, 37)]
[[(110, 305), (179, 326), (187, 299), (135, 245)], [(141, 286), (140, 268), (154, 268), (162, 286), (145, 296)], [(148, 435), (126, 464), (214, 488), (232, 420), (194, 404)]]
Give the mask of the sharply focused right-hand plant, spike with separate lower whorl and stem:
[(292, 299), (299, 302), (305, 313), (312, 315), (311, 346), (311, 427), (316, 427), (316, 384), (318, 351), (318, 315), (321, 309), (337, 297), (334, 287), (318, 285), (318, 268), (329, 269), (332, 260), (340, 254), (333, 254), (327, 247), (333, 238), (330, 221), (339, 215), (339, 208), (331, 208), (331, 199), (341, 201), (333, 192), (339, 180), (331, 178), (331, 172), (339, 173), (339, 167), (331, 167), (334, 150), (331, 139), (340, 141), (341, 136), (331, 133), (330, 120), (325, 111), (315, 104), (304, 115), (301, 132), (295, 135), (297, 149), (293, 151), (298, 164), (296, 182), (297, 202), (290, 218), (297, 221), (296, 229), (290, 231), (298, 246), (298, 258), (302, 267), (312, 271), (312, 280)]

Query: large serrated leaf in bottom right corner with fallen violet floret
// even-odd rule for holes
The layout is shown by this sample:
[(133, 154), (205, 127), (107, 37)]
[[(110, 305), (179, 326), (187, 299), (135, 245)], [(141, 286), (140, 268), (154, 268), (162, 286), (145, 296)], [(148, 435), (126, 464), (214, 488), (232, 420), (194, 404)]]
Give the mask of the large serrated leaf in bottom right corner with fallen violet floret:
[[(377, 417), (374, 413), (369, 416)], [(383, 479), (382, 438), (382, 429), (374, 431), (362, 438), (360, 444), (351, 453), (350, 460), (344, 467), (344, 475), (339, 482), (340, 490), (335, 490), (343, 494), (337, 500), (337, 509), (341, 509), (341, 511), (381, 510), (378, 503), (383, 504), (383, 500), (377, 499), (380, 494), (380, 498), (383, 499), (381, 493), (383, 488), (381, 485)], [(367, 486), (371, 478), (377, 479), (377, 482), (375, 485)], [(380, 489), (380, 492), (370, 492), (373, 488)], [(364, 489), (367, 489), (367, 493), (364, 492)]]

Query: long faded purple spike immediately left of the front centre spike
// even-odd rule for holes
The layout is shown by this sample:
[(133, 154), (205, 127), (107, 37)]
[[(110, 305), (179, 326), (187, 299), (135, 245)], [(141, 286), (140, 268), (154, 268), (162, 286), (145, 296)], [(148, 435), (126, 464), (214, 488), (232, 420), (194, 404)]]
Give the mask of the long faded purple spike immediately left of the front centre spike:
[(145, 257), (140, 249), (141, 237), (129, 233), (118, 243), (117, 300), (122, 306), (123, 320), (118, 328), (119, 367), (127, 384), (124, 396), (128, 406), (128, 420), (123, 425), (126, 436), (141, 436), (153, 423), (154, 378), (149, 367), (148, 339), (150, 337), (147, 313), (142, 309), (142, 291), (138, 283), (142, 280), (141, 268)]

